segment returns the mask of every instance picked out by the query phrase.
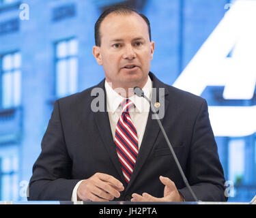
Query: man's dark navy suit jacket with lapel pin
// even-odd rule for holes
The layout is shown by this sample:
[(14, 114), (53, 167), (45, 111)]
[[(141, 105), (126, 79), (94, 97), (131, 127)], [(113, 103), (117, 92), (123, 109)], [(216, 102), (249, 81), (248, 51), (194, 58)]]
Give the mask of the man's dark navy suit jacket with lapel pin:
[[(201, 97), (160, 82), (152, 73), (149, 75), (153, 87), (165, 88), (165, 96), (156, 95), (156, 101), (165, 99), (161, 122), (197, 198), (227, 200), (207, 103)], [(105, 91), (104, 80), (96, 87)], [(71, 200), (77, 182), (102, 172), (124, 184), (125, 190), (115, 200), (130, 200), (132, 193), (143, 192), (162, 197), (164, 185), (159, 180), (162, 175), (171, 178), (186, 201), (193, 201), (151, 111), (136, 166), (130, 183), (125, 185), (108, 112), (91, 110), (91, 102), (96, 98), (91, 96), (94, 88), (55, 102), (42, 139), (42, 153), (33, 166), (28, 199)]]

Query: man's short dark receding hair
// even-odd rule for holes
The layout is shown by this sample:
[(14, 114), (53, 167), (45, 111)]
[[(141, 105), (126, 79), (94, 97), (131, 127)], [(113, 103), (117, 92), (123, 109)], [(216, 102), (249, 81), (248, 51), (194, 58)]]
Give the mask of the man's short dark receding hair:
[(148, 33), (149, 33), (150, 41), (151, 41), (150, 20), (148, 20), (144, 14), (140, 14), (139, 12), (137, 12), (137, 10), (134, 10), (132, 7), (128, 7), (127, 5), (114, 5), (112, 7), (109, 7), (104, 12), (102, 12), (102, 14), (100, 15), (100, 17), (98, 18), (98, 20), (96, 21), (96, 23), (94, 25), (94, 38), (95, 38), (96, 46), (100, 46), (100, 44), (101, 44), (100, 24), (104, 20), (104, 18), (111, 13), (124, 14), (124, 15), (129, 15), (132, 13), (139, 14), (139, 16), (141, 16), (143, 18), (143, 20), (145, 20), (145, 22), (147, 23), (147, 29), (148, 29)]

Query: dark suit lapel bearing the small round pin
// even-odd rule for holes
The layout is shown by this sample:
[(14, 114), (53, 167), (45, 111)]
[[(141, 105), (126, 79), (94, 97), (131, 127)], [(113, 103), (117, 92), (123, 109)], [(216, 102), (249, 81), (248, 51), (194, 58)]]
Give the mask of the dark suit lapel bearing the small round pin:
[[(160, 82), (154, 74), (150, 73), (150, 77), (153, 80), (153, 88), (156, 88), (156, 98), (152, 98), (152, 104), (154, 105), (156, 102), (164, 101), (164, 105), (160, 105), (160, 107), (165, 107), (165, 112), (167, 112), (167, 108), (169, 106), (169, 101), (165, 99), (165, 95), (168, 95), (167, 89), (165, 89), (164, 95), (159, 95), (159, 88), (165, 87), (162, 82)], [(155, 108), (156, 109), (156, 108)], [(160, 108), (159, 108), (160, 110)], [(152, 151), (152, 148), (156, 142), (156, 138), (160, 132), (160, 127), (155, 119), (152, 119), (153, 112), (150, 110), (148, 118), (147, 118), (147, 125), (145, 127), (145, 133), (143, 136), (143, 140), (141, 142), (141, 147), (139, 149), (139, 155), (137, 157), (137, 161), (132, 172), (132, 176), (130, 178), (130, 182), (128, 184), (127, 189), (132, 185), (135, 181), (136, 177), (138, 176), (139, 172), (143, 168), (145, 161), (147, 160), (148, 155)], [(162, 122), (163, 119), (160, 119)]]

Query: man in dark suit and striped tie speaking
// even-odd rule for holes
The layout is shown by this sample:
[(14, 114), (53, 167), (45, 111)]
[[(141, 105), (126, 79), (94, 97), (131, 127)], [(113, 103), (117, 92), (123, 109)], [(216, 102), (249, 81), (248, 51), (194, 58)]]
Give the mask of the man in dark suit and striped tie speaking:
[[(164, 111), (162, 125), (197, 198), (225, 201), (207, 104), (150, 72), (155, 45), (147, 18), (128, 7), (111, 7), (96, 22), (95, 38), (93, 55), (105, 80), (55, 102), (29, 200), (194, 200), (150, 105), (132, 91), (140, 87)], [(103, 112), (94, 110), (98, 89)]]

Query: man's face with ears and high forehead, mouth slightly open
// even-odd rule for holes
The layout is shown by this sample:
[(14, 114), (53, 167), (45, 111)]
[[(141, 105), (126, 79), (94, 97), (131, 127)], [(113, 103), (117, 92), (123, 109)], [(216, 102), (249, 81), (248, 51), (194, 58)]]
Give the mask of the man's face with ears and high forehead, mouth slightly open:
[(143, 88), (154, 53), (145, 20), (135, 13), (109, 14), (100, 25), (100, 39), (93, 54), (104, 67), (106, 82), (113, 89)]

